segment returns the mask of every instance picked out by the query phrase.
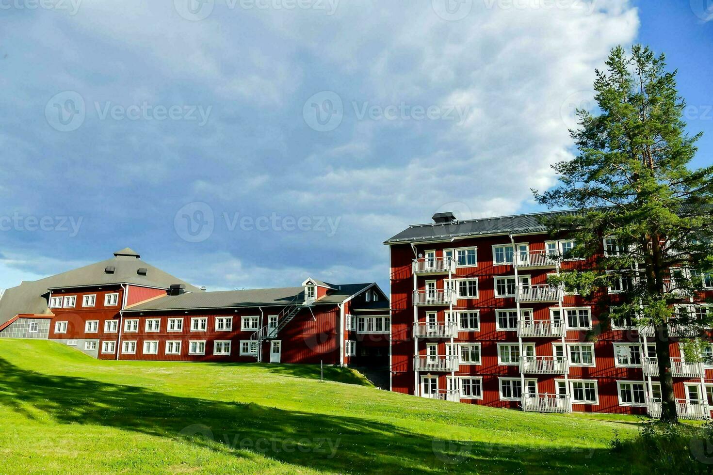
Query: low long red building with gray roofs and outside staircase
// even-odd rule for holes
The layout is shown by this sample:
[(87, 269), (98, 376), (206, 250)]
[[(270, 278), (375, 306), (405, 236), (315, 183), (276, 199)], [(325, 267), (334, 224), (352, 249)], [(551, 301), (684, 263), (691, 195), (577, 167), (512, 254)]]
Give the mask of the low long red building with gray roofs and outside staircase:
[(48, 338), (105, 360), (388, 363), (376, 283), (207, 292), (123, 249), (0, 298), (0, 338)]

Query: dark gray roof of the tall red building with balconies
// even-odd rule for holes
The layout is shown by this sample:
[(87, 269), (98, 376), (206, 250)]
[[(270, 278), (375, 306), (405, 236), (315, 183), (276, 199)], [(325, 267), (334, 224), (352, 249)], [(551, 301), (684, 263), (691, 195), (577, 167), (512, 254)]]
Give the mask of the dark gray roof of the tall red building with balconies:
[(553, 216), (573, 216), (582, 214), (579, 209), (557, 212), (516, 214), (494, 218), (468, 219), (453, 223), (414, 224), (401, 231), (384, 244), (417, 241), (439, 241), (463, 236), (486, 236), (488, 234), (547, 232), (547, 226), (540, 219)]

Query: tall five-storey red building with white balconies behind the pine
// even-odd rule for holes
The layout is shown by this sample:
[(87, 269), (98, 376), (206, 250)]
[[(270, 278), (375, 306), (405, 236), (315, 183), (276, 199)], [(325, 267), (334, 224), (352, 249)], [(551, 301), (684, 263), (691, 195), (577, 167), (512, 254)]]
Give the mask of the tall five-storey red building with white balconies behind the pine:
[[(539, 218), (458, 221), (442, 213), (384, 243), (391, 255), (391, 390), (526, 411), (657, 416), (652, 328), (607, 318), (627, 282), (590, 298), (548, 285), (549, 274), (591, 262), (560, 259), (573, 241), (550, 237)], [(602, 241), (602, 253), (618, 251), (611, 239)], [(704, 282), (677, 310), (712, 311), (700, 304), (713, 297), (712, 276)], [(670, 333), (693, 336), (675, 325)], [(706, 362), (687, 362), (672, 340), (679, 416), (708, 418), (713, 346)]]

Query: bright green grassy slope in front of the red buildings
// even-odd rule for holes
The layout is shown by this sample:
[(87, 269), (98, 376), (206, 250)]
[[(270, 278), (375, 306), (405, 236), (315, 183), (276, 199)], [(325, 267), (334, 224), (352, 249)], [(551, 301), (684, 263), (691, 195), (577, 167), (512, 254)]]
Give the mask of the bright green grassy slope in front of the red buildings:
[[(430, 401), (349, 370), (325, 376), (307, 365), (106, 362), (0, 340), (0, 471), (629, 471), (608, 442), (615, 430), (632, 437), (633, 418)], [(214, 440), (188, 437), (207, 428)], [(338, 444), (333, 456), (318, 439)]]

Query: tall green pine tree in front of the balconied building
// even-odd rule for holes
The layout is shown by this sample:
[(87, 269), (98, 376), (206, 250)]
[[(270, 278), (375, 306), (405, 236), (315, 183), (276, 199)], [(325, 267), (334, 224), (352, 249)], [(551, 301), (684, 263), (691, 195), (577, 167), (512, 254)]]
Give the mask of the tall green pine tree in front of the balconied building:
[[(692, 303), (713, 285), (713, 166), (689, 168), (701, 134), (689, 137), (684, 130), (686, 105), (664, 55), (642, 46), (627, 54), (618, 46), (606, 66), (594, 83), (599, 110), (578, 110), (580, 127), (570, 130), (578, 155), (553, 166), (557, 187), (533, 192), (550, 208), (581, 210), (547, 224), (553, 233), (573, 234), (573, 256), (595, 260), (590, 270), (563, 273), (553, 283), (585, 295), (624, 287), (610, 317), (633, 316), (635, 325), (655, 329), (661, 419), (677, 422), (670, 329), (704, 336), (713, 320), (711, 311)], [(677, 311), (677, 303), (694, 311)]]

